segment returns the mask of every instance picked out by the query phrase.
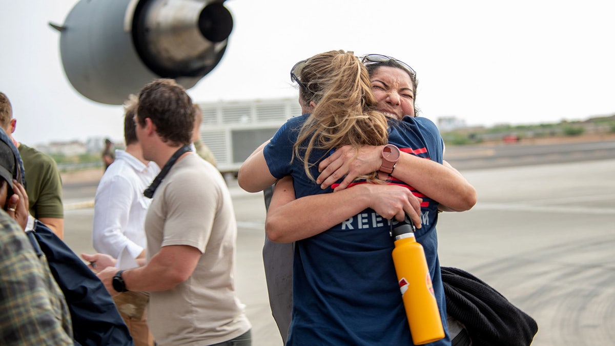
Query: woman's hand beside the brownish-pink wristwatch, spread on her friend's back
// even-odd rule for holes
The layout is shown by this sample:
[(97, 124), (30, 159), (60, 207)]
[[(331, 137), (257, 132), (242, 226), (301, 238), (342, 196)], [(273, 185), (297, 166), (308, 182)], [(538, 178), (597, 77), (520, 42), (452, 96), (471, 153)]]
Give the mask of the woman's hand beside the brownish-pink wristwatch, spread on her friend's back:
[(382, 164), (382, 148), (382, 145), (365, 145), (357, 151), (351, 145), (344, 145), (320, 162), (316, 183), (324, 190), (345, 176), (335, 191), (346, 188), (359, 175), (378, 171)]

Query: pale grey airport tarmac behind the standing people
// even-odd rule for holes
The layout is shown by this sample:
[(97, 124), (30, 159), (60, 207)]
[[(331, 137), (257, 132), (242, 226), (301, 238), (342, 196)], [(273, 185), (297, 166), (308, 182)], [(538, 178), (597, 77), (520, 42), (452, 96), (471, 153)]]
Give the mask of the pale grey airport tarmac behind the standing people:
[[(459, 167), (478, 191), (477, 205), (440, 214), (440, 263), (473, 273), (532, 316), (539, 326), (533, 345), (614, 343), (615, 150), (599, 147), (597, 158), (586, 152), (573, 162), (529, 166), (526, 155), (513, 155), (521, 161), (507, 167), (486, 155), (493, 157)], [(568, 155), (561, 157), (575, 155), (563, 151)], [(477, 155), (451, 154), (450, 161), (463, 166), (464, 159)], [(228, 183), (239, 233), (237, 291), (253, 324), (253, 345), (281, 345), (261, 257), (263, 196)], [(94, 192), (95, 182), (65, 187), (67, 205), (80, 206), (65, 212), (65, 241), (77, 254), (93, 252), (87, 200)]]

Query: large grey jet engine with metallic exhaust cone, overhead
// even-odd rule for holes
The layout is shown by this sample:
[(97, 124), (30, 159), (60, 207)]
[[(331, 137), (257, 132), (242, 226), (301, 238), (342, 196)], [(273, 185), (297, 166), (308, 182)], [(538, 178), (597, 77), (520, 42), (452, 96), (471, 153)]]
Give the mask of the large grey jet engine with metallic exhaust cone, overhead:
[(156, 78), (186, 89), (218, 65), (232, 30), (224, 0), (81, 0), (60, 30), (66, 77), (119, 105)]

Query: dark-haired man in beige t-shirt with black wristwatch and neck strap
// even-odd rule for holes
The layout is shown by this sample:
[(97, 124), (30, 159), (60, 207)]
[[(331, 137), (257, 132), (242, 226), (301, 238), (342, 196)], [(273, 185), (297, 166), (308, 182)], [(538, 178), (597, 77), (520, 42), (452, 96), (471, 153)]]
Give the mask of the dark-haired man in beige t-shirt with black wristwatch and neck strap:
[(153, 196), (146, 264), (106, 268), (98, 277), (112, 295), (150, 292), (148, 324), (159, 346), (250, 346), (251, 325), (233, 278), (231, 196), (220, 172), (189, 151), (193, 122), (192, 102), (174, 81), (157, 79), (141, 90), (137, 138), (143, 157), (162, 167), (145, 194)]

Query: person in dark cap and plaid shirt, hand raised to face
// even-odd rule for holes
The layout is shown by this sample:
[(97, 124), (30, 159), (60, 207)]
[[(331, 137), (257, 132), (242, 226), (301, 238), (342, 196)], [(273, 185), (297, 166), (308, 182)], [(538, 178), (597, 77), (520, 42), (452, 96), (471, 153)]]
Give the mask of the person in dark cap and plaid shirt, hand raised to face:
[[(0, 340), (6, 345), (73, 345), (71, 316), (44, 255), (24, 230), (28, 196), (21, 158), (0, 129)], [(33, 219), (30, 219), (33, 220)]]

